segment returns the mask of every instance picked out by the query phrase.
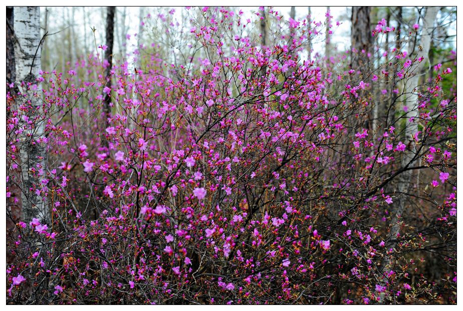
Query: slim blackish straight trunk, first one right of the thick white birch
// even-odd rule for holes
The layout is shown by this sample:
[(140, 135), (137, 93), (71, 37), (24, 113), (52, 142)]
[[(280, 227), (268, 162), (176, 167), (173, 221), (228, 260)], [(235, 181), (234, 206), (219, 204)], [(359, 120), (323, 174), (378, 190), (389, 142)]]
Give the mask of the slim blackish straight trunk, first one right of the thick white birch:
[[(114, 15), (116, 12), (115, 6), (108, 6), (107, 7), (107, 15), (106, 15), (106, 45), (107, 48), (105, 50), (105, 60), (108, 62), (105, 68), (105, 79), (106, 79), (106, 86), (111, 87), (111, 67), (113, 62), (113, 45), (114, 45)], [(111, 106), (109, 105), (111, 102), (111, 96), (109, 93), (105, 93), (104, 97), (104, 112), (106, 116), (106, 122), (109, 126), (108, 117), (111, 115)], [(103, 143), (107, 145), (106, 139), (103, 140)]]

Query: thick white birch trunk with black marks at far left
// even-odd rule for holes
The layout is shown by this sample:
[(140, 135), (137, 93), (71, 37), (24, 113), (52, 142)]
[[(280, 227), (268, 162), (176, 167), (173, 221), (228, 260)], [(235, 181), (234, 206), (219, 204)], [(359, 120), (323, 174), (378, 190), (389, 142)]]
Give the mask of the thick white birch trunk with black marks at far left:
[[(46, 166), (46, 148), (43, 141), (45, 122), (40, 117), (42, 112), (41, 98), (37, 95), (38, 87), (33, 90), (29, 85), (37, 83), (40, 71), (40, 9), (38, 6), (17, 6), (14, 8), (14, 31), (16, 83), (20, 94), (17, 102), (28, 107), (28, 117), (35, 119), (35, 127), (26, 129), (21, 137), (21, 171), (23, 179), (22, 212), (23, 221), (33, 218), (48, 219), (44, 199), (36, 189), (40, 189), (38, 171)], [(22, 84), (22, 82), (24, 82)]]

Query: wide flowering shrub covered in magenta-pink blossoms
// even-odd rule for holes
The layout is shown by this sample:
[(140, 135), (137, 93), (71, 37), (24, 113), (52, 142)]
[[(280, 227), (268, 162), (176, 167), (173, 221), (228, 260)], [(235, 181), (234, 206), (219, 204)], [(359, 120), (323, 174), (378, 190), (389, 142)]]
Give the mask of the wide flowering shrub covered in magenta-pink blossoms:
[[(111, 87), (99, 56), (42, 72), (33, 118), (7, 94), (8, 207), (21, 205), (21, 135), (43, 122), (32, 190), (49, 213), (7, 212), (7, 302), (456, 302), (452, 70), (435, 68), (408, 118), (397, 87), (420, 59), (396, 49), (362, 71), (345, 55), (301, 60), (317, 31), (270, 13), (289, 41), (260, 46), (242, 12), (206, 8), (184, 38), (200, 56), (184, 63), (148, 47), (141, 68), (112, 66)], [(392, 116), (373, 127), (380, 101)]]

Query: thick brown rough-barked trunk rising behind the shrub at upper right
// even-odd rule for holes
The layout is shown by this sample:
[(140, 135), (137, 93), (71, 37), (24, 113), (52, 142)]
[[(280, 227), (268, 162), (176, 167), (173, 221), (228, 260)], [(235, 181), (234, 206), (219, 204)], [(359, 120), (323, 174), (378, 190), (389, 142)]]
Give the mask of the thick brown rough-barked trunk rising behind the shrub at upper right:
[(351, 42), (351, 63), (354, 70), (360, 70), (363, 74), (368, 68), (371, 47), (373, 46), (373, 37), (370, 29), (370, 7), (369, 6), (352, 6), (352, 32)]

